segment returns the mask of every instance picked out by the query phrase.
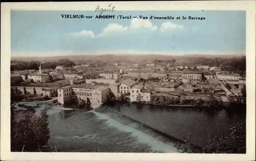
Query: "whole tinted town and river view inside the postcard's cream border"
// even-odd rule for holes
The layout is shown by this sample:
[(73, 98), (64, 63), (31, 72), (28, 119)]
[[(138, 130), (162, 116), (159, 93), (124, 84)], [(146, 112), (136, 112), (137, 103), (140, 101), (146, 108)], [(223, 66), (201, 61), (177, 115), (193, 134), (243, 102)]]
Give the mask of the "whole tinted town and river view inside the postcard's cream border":
[(245, 12), (170, 13), (12, 11), (11, 151), (246, 153)]

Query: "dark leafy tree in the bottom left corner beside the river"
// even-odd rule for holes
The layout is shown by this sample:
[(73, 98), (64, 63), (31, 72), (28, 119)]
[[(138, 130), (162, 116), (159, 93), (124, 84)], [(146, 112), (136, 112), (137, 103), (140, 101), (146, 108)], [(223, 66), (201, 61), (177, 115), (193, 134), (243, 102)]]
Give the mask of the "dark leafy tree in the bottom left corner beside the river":
[(33, 111), (14, 116), (11, 107), (11, 151), (39, 152), (47, 145), (50, 138), (47, 110), (41, 115)]

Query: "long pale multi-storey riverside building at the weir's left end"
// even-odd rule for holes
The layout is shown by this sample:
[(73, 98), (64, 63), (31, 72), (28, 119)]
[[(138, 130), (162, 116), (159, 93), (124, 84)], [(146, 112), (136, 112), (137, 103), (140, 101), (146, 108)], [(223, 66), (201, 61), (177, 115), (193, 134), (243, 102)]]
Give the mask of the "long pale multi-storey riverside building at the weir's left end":
[(110, 88), (95, 85), (69, 85), (58, 89), (58, 101), (61, 104), (69, 102), (71, 99), (84, 100), (93, 105), (101, 105), (110, 94)]

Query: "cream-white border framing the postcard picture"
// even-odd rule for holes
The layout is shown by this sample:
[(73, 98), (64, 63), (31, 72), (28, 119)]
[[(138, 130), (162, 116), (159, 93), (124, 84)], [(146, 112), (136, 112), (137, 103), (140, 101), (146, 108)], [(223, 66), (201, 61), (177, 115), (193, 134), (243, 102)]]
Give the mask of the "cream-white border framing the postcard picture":
[[(11, 153), (10, 152), (10, 10), (246, 10), (246, 154), (154, 153)], [(73, 2), (1, 4), (1, 160), (254, 160), (255, 159), (255, 1)]]

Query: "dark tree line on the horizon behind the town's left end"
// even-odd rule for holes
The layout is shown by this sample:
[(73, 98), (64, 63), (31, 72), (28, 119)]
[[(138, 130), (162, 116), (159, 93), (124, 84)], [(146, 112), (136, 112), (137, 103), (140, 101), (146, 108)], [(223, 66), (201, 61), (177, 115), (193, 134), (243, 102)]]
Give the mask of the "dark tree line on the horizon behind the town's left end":
[[(39, 61), (11, 61), (11, 71), (15, 70), (38, 70), (41, 62)], [(67, 58), (58, 61), (49, 61), (42, 64), (43, 69), (55, 69), (56, 66), (72, 67), (75, 63)]]

